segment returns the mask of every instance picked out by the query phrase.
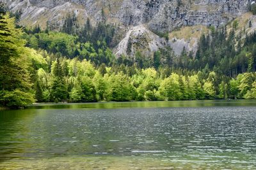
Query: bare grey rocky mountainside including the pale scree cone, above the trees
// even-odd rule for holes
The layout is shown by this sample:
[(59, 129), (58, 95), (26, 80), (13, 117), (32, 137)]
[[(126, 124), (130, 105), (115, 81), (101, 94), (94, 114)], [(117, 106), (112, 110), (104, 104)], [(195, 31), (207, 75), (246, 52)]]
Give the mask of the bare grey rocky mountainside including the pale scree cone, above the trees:
[[(68, 13), (76, 15), (79, 25), (84, 25), (87, 18), (94, 25), (106, 20), (123, 33), (114, 49), (118, 56), (134, 55), (137, 50), (150, 54), (164, 46), (170, 46), (176, 54), (183, 48), (195, 53), (202, 32), (246, 15), (252, 3), (250, 0), (2, 1), (13, 12), (20, 11), (20, 24), (30, 27), (51, 25), (53, 29), (60, 29)], [(255, 16), (251, 17), (250, 20), (255, 20)], [(176, 36), (182, 30), (190, 37)], [(166, 32), (171, 33), (161, 38)]]

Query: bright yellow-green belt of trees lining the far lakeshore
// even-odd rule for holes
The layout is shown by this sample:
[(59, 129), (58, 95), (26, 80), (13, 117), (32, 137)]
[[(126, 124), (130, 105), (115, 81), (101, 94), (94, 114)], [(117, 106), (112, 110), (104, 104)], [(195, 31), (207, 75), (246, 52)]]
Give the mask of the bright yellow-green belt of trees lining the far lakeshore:
[[(45, 60), (48, 57), (45, 55)], [(255, 90), (255, 73), (239, 74), (229, 80), (217, 72), (209, 72), (206, 66), (198, 73), (134, 67), (131, 74), (132, 67), (124, 64), (95, 67), (88, 60), (51, 57), (49, 71), (40, 68), (36, 74), (36, 96), (42, 96), (41, 101), (45, 102), (251, 99)]]

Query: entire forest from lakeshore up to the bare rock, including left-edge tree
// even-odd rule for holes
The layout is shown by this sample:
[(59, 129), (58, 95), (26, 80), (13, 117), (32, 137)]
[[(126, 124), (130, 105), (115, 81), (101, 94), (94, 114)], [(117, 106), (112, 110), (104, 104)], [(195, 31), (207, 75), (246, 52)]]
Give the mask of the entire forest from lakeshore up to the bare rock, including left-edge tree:
[[(116, 57), (114, 25), (68, 15), (61, 31), (17, 25), (0, 13), (0, 106), (99, 101), (256, 99), (256, 32), (211, 29), (198, 51)], [(74, 26), (75, 25), (75, 26)]]

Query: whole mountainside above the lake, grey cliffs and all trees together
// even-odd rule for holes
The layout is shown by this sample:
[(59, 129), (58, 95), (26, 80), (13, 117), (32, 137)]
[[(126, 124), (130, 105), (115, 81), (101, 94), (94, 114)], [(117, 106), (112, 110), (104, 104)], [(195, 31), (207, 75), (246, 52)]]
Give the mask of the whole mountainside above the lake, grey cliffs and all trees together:
[(255, 1), (0, 0), (0, 39), (4, 107), (256, 99)]

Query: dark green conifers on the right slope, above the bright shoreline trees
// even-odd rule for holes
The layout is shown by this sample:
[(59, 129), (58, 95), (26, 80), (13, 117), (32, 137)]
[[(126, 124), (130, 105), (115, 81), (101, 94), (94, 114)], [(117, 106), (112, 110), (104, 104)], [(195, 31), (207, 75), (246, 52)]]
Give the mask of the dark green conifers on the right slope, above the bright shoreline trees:
[[(256, 70), (256, 55), (253, 55), (253, 46), (256, 42), (256, 33), (246, 36), (244, 44), (241, 35), (235, 36), (238, 22), (233, 24), (233, 29), (227, 34), (225, 28), (218, 29), (202, 35), (196, 52), (195, 60), (188, 60), (189, 69), (202, 70), (208, 67), (209, 71), (218, 70), (218, 74), (234, 77), (239, 73), (252, 72)], [(237, 46), (236, 46), (237, 44)], [(250, 55), (252, 54), (252, 55)], [(180, 67), (180, 64), (178, 64)]]

